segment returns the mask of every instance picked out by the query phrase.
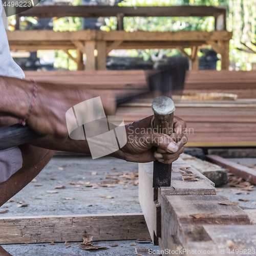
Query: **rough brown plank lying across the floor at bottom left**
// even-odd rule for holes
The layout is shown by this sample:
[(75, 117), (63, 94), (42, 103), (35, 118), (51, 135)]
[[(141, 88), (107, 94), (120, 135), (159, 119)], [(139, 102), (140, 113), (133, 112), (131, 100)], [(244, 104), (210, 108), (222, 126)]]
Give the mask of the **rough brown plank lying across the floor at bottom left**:
[(0, 217), (0, 244), (80, 242), (150, 238), (143, 214)]

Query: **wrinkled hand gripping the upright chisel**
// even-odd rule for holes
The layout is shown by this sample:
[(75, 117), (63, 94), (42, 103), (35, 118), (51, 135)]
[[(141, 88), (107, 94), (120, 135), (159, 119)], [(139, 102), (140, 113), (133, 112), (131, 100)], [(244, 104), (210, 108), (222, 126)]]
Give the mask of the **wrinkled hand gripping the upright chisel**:
[(170, 136), (158, 134), (153, 130), (154, 116), (127, 124), (127, 143), (121, 148), (126, 161), (172, 163), (184, 151), (187, 137), (184, 134), (186, 123), (174, 117), (174, 133)]

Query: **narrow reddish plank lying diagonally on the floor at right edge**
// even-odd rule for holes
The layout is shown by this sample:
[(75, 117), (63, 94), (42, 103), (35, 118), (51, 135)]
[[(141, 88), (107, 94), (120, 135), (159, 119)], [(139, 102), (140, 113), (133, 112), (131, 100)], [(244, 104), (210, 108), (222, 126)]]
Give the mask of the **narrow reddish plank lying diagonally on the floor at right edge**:
[(216, 156), (216, 155), (207, 155), (207, 160), (216, 163), (223, 168), (229, 170), (230, 173), (243, 178), (244, 180), (248, 180), (252, 184), (256, 185), (256, 170), (243, 166), (238, 163), (234, 163), (228, 159)]

